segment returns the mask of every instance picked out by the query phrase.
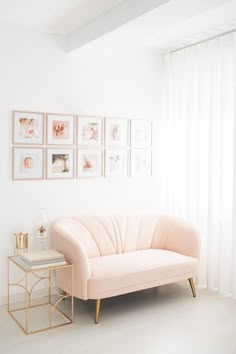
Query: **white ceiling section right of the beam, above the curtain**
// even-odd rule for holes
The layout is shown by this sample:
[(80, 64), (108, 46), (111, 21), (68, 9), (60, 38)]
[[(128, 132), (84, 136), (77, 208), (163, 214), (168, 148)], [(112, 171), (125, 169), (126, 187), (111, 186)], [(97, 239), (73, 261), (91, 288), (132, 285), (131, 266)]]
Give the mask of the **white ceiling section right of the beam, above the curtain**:
[(236, 29), (236, 0), (171, 0), (99, 39), (168, 52)]

